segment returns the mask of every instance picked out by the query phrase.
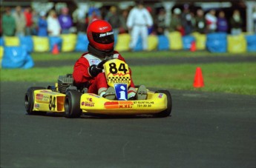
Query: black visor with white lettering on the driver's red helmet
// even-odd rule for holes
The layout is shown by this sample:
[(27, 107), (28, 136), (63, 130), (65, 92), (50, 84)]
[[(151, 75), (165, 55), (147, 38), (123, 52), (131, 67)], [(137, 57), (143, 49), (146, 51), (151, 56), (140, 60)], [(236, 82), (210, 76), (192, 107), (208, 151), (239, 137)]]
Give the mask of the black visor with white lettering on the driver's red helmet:
[(92, 33), (93, 40), (100, 44), (111, 44), (114, 42), (113, 31), (107, 33)]

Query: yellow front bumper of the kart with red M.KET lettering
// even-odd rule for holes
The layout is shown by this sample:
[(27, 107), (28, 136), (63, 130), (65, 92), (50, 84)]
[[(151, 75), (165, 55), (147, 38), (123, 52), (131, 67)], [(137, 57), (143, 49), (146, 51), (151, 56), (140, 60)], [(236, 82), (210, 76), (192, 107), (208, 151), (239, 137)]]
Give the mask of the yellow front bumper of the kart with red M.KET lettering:
[(80, 108), (83, 113), (108, 115), (154, 114), (167, 109), (167, 98), (163, 93), (148, 91), (147, 100), (111, 101), (99, 95), (85, 93), (81, 96)]

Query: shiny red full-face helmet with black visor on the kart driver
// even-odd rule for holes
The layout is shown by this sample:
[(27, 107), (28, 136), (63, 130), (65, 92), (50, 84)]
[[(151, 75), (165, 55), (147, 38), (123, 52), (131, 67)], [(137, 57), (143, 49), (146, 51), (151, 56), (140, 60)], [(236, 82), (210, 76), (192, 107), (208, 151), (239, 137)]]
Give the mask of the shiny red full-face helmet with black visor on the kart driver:
[(108, 21), (91, 22), (87, 28), (87, 37), (90, 44), (98, 50), (114, 49), (114, 33)]

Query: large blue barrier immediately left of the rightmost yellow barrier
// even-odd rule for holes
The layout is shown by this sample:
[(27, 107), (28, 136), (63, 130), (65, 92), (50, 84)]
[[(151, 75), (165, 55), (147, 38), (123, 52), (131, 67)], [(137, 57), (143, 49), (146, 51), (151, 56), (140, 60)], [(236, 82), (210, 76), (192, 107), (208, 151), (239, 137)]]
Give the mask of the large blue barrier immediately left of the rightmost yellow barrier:
[(226, 33), (209, 33), (206, 36), (206, 48), (211, 53), (226, 53), (227, 51)]

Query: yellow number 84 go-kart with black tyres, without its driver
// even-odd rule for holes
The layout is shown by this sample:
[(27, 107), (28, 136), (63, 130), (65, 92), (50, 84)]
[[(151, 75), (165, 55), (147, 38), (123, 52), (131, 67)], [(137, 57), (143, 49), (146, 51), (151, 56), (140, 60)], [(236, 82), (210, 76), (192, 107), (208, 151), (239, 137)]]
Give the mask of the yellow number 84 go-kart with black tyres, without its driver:
[[(55, 86), (30, 87), (24, 96), (25, 109), (29, 115), (46, 112), (62, 112), (67, 118), (79, 118), (82, 114), (142, 115), (167, 117), (171, 114), (171, 93), (168, 90), (148, 90), (145, 100), (128, 100), (131, 75), (128, 64), (111, 58), (101, 61), (109, 87), (114, 87), (116, 99), (108, 100), (88, 93), (86, 87), (73, 84), (72, 75), (60, 75)], [(138, 87), (136, 87), (137, 89)]]

